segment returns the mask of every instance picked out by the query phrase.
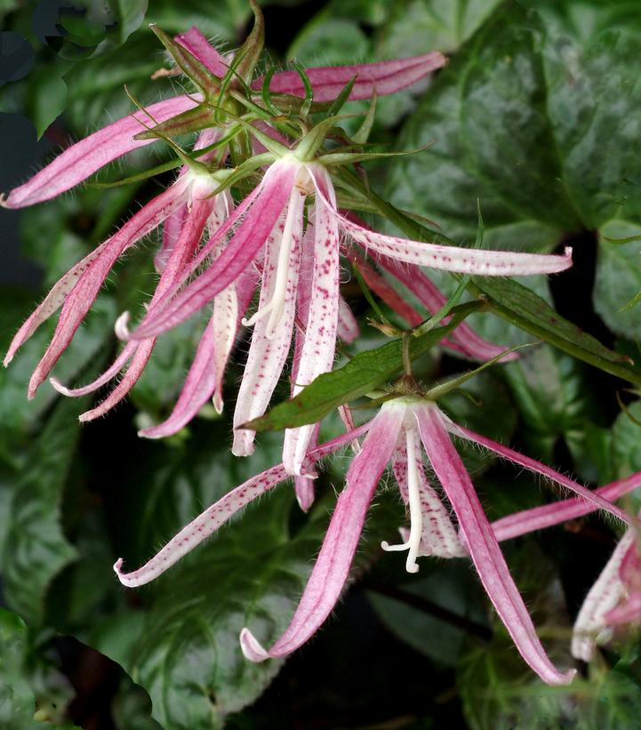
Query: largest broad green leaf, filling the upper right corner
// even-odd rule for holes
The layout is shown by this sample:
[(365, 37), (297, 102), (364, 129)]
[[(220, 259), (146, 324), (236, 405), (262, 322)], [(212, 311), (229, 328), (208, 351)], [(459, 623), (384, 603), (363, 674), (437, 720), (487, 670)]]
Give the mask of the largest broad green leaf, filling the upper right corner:
[(395, 165), (393, 202), (458, 238), (471, 237), (480, 198), (491, 245), (494, 229), (517, 222), (538, 226), (542, 243), (550, 229), (557, 240), (593, 229), (620, 205), (639, 210), (640, 10), (501, 3), (405, 124), (399, 148), (434, 146)]

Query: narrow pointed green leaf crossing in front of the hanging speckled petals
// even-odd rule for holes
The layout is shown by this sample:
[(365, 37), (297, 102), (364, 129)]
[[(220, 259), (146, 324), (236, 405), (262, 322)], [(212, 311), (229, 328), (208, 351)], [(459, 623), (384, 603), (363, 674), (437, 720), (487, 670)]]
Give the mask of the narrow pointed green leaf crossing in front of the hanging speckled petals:
[[(411, 359), (428, 352), (475, 309), (478, 309), (477, 302), (461, 304), (453, 309), (452, 319), (447, 325), (419, 337), (410, 336)], [(363, 352), (353, 357), (347, 365), (332, 373), (320, 375), (302, 389), (298, 396), (276, 405), (266, 415), (250, 421), (246, 427), (254, 430), (280, 430), (320, 421), (339, 405), (364, 396), (400, 374), (403, 368), (402, 350), (402, 340), (398, 339), (381, 348)]]

